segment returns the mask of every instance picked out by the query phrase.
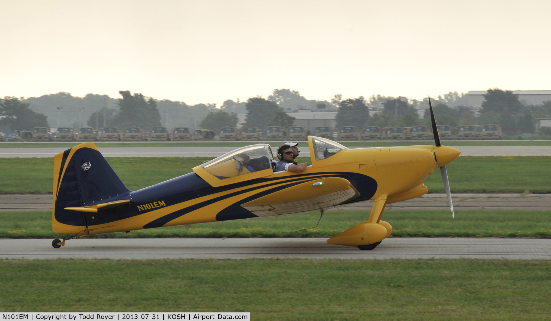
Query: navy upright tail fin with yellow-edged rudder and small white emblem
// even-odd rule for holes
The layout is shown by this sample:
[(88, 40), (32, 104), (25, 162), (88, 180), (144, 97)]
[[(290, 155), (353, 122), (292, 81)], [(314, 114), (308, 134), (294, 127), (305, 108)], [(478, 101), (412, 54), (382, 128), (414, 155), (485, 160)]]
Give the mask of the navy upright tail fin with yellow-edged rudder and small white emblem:
[(57, 154), (53, 157), (53, 231), (77, 233), (87, 226), (85, 215), (65, 208), (120, 200), (130, 192), (94, 143)]

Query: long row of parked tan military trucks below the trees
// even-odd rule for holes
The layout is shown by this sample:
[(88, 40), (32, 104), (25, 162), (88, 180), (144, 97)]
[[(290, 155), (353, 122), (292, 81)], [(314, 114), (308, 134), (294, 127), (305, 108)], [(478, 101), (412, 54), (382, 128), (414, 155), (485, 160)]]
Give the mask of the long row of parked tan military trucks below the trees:
[[(455, 130), (454, 130), (455, 129)], [(452, 130), (456, 132), (458, 140), (501, 139), (501, 127), (495, 124), (482, 126), (462, 125), (452, 128), (449, 125), (439, 125), (438, 131), (441, 139), (451, 139)], [(220, 140), (306, 140), (310, 132), (305, 127), (293, 126), (283, 128), (280, 126), (268, 126), (265, 131), (257, 127), (222, 127), (220, 128)], [(375, 127), (368, 126), (358, 130), (354, 126), (344, 126), (334, 132), (328, 126), (316, 127), (314, 133), (318, 137), (336, 140), (430, 140), (433, 139), (433, 130), (427, 126), (412, 127)], [(191, 129), (188, 127), (176, 127), (170, 132), (166, 127), (152, 127), (149, 132), (140, 127), (126, 127), (121, 130), (116, 127), (105, 127), (95, 130), (92, 127), (82, 127), (78, 131), (71, 127), (59, 127), (55, 133), (50, 133), (50, 128), (35, 127), (33, 130), (20, 130), (13, 137), (16, 142), (131, 142), (131, 141), (190, 141), (190, 140), (214, 140), (215, 133), (209, 129)]]

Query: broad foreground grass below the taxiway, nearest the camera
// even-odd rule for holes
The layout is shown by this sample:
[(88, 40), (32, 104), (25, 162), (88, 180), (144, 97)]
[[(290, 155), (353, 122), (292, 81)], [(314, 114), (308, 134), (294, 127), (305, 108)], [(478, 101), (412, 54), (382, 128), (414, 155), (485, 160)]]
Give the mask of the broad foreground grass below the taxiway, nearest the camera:
[(251, 312), (252, 320), (549, 320), (551, 262), (0, 260), (2, 312)]

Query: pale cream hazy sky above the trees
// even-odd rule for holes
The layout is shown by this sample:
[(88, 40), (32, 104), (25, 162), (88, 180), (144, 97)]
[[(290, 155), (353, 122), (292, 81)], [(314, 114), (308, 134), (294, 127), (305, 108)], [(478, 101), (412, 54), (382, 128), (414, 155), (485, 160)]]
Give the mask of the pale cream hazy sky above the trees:
[(551, 90), (549, 1), (0, 1), (0, 96)]

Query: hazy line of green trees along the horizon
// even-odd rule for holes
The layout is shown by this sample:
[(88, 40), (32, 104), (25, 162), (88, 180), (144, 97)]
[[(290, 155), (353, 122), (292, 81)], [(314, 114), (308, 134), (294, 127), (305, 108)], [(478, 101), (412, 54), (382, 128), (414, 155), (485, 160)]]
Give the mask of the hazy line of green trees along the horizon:
[[(127, 90), (121, 90), (119, 94), (121, 98), (115, 100), (106, 95), (88, 94), (81, 99), (69, 93), (58, 93), (39, 97), (42, 99), (40, 104), (36, 104), (39, 101), (36, 97), (25, 100), (23, 97), (21, 99), (4, 97), (0, 99), (0, 126), (10, 130), (26, 130), (32, 127), (47, 127), (48, 120), (56, 126), (60, 123), (60, 115), (64, 115), (60, 108), (54, 109), (46, 116), (45, 113), (34, 111), (30, 105), (35, 103), (39, 106), (38, 108), (46, 109), (46, 106), (52, 104), (59, 105), (60, 102), (71, 101), (78, 104), (77, 107), (72, 106), (73, 123), (65, 126), (75, 128), (80, 126), (80, 123), (83, 126), (87, 124), (96, 127), (98, 124), (98, 127), (103, 127), (104, 115), (106, 126), (119, 128), (139, 126), (149, 129), (153, 126), (161, 126), (161, 123), (170, 128), (191, 127), (215, 131), (223, 126), (290, 127), (295, 118), (287, 113), (289, 110), (298, 107), (315, 109), (320, 104), (329, 110), (337, 111), (337, 127), (409, 127), (419, 123), (430, 126), (429, 113), (425, 112), (423, 118), (420, 118), (417, 113), (418, 109), (428, 107), (427, 98), (414, 100), (402, 96), (372, 95), (367, 99), (363, 96), (342, 99), (342, 95), (337, 94), (331, 100), (318, 101), (307, 100), (296, 90), (274, 89), (267, 98), (256, 96), (246, 101), (226, 100), (220, 108), (216, 108), (215, 104), (189, 106), (180, 101), (156, 100), (140, 93), (132, 94)], [(433, 107), (438, 123), (453, 127), (461, 124), (493, 123), (499, 124), (505, 134), (515, 135), (533, 133), (534, 118), (545, 118), (551, 115), (551, 101), (543, 102), (542, 105), (522, 105), (518, 95), (510, 90), (488, 89), (484, 98), (482, 108), (476, 112), (472, 107), (467, 106), (467, 95), (464, 93), (450, 92), (436, 97), (433, 99)], [(50, 105), (47, 104), (48, 101)], [(74, 122), (75, 115), (84, 118), (80, 114), (84, 113), (84, 110), (86, 110), (86, 119)], [(370, 110), (380, 112), (370, 117)], [(238, 124), (237, 113), (247, 114), (245, 123)]]

